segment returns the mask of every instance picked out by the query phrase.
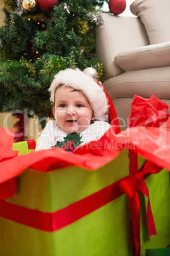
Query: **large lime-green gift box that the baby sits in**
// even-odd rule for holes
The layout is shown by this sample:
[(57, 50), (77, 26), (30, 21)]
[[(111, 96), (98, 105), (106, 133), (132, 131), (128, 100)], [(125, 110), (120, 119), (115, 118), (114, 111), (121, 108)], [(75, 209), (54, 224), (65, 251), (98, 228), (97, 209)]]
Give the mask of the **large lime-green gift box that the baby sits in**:
[[(26, 141), (13, 149), (29, 152)], [(138, 168), (144, 163), (138, 155)], [(129, 176), (129, 164), (124, 149), (93, 171), (75, 165), (48, 172), (26, 169), (17, 177), (14, 196), (0, 203), (0, 255), (133, 255), (128, 198), (118, 185)], [(170, 244), (169, 173), (162, 169), (146, 176), (145, 183), (157, 235), (148, 238), (148, 198), (140, 192), (141, 256)]]

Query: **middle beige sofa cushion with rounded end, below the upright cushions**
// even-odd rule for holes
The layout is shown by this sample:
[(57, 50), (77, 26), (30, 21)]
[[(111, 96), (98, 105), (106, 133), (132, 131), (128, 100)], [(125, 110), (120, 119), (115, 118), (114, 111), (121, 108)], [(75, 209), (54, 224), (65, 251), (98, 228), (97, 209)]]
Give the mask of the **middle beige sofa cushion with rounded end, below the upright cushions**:
[(170, 41), (121, 52), (115, 64), (124, 71), (170, 66)]

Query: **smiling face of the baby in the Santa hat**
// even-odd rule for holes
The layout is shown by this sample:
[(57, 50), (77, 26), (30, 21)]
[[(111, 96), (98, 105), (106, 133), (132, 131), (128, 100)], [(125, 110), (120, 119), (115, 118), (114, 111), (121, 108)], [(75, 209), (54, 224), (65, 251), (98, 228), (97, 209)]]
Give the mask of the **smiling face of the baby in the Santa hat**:
[(93, 110), (81, 91), (58, 87), (53, 115), (60, 129), (68, 133), (84, 131), (93, 119)]

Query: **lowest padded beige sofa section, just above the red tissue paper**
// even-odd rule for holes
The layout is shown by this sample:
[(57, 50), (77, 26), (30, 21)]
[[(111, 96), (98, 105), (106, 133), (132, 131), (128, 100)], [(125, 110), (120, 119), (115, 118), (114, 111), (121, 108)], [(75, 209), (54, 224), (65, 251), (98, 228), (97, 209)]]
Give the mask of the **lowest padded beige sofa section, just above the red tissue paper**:
[(112, 100), (134, 94), (150, 97), (154, 93), (160, 99), (170, 99), (170, 66), (126, 71), (105, 80), (103, 87)]

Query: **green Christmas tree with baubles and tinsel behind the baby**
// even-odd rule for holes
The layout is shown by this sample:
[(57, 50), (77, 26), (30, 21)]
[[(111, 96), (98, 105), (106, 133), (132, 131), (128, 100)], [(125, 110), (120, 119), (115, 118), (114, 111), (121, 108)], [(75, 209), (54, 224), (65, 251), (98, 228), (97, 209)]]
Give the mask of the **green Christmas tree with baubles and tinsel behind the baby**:
[[(30, 117), (51, 117), (48, 88), (58, 71), (103, 65), (96, 58), (96, 6), (104, 0), (3, 0), (0, 29), (0, 111), (26, 109)], [(18, 114), (20, 117), (20, 114)], [(20, 127), (20, 122), (18, 122)]]

